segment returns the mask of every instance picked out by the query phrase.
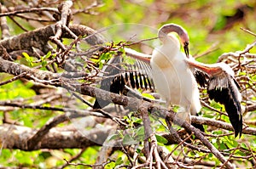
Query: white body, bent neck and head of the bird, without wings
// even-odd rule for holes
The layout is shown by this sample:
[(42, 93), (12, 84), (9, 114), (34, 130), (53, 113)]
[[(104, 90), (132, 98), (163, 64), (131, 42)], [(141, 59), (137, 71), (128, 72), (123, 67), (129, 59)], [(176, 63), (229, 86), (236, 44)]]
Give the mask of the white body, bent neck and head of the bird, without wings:
[[(180, 42), (170, 32), (177, 32), (185, 54), (180, 51)], [(169, 104), (179, 105), (177, 116), (183, 121), (190, 121), (190, 114), (196, 115), (201, 110), (200, 93), (195, 77), (186, 63), (189, 55), (188, 33), (179, 25), (164, 25), (158, 31), (162, 42), (160, 47), (154, 48), (150, 65), (152, 78), (160, 93), (160, 98)]]

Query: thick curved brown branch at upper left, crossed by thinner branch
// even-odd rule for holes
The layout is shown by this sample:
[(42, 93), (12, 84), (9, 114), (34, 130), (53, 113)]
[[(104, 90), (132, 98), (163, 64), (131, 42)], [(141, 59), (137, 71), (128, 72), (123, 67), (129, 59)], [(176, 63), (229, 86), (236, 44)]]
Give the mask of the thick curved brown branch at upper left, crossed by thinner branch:
[[(57, 24), (57, 23), (56, 23)], [(49, 47), (49, 37), (55, 36), (55, 25), (47, 25), (34, 31), (21, 33), (14, 37), (6, 37), (0, 41), (0, 46), (6, 49), (8, 53), (19, 50), (32, 50), (38, 48), (47, 54), (52, 48)], [(97, 31), (85, 25), (69, 25), (68, 28), (73, 31), (76, 36), (87, 36), (84, 41), (90, 45), (102, 44), (106, 42), (105, 38)], [(67, 30), (62, 30), (62, 37), (73, 38)], [(2, 53), (3, 54), (3, 53)], [(1, 54), (1, 55), (2, 55)]]

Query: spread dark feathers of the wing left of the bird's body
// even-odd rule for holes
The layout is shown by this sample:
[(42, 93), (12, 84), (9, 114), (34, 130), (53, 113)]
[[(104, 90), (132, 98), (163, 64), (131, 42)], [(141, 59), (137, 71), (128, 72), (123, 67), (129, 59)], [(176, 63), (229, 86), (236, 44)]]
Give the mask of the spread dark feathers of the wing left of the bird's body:
[[(126, 95), (127, 87), (141, 88), (154, 91), (154, 82), (151, 78), (151, 67), (147, 62), (135, 59), (133, 65), (124, 65), (121, 56), (116, 56), (108, 61), (108, 65), (103, 68), (106, 76), (103, 76), (101, 88), (111, 93)], [(115, 65), (115, 66), (113, 66)], [(101, 109), (111, 101), (96, 97), (94, 109)]]

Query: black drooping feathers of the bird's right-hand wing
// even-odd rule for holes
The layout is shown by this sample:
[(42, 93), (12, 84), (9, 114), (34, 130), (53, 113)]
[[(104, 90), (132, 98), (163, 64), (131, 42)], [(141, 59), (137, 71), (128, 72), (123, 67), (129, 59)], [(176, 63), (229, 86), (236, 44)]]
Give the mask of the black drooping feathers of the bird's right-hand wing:
[[(193, 65), (195, 66), (195, 65)], [(196, 81), (201, 87), (207, 86), (207, 93), (210, 99), (215, 100), (220, 104), (224, 104), (232, 127), (235, 131), (235, 137), (239, 134), (241, 137), (242, 131), (242, 116), (241, 116), (241, 93), (240, 87), (236, 79), (226, 72), (224, 69), (218, 75), (212, 75), (195, 67), (191, 69)]]

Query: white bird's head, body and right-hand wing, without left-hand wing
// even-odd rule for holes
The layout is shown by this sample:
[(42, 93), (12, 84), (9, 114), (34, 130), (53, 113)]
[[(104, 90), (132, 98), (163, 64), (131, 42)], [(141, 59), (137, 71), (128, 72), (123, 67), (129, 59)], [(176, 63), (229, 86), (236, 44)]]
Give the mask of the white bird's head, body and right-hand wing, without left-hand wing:
[[(171, 32), (177, 33), (185, 54), (180, 51), (180, 42)], [(162, 45), (154, 48), (150, 65), (155, 87), (166, 104), (177, 104), (177, 116), (190, 122), (190, 114), (201, 110), (197, 83), (207, 86), (210, 99), (224, 104), (235, 137), (241, 137), (241, 93), (234, 71), (224, 63), (203, 64), (189, 55), (189, 35), (182, 26), (166, 24), (160, 27), (158, 37)]]

